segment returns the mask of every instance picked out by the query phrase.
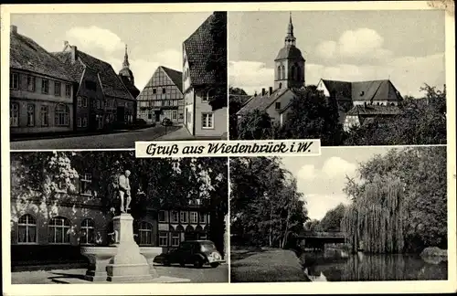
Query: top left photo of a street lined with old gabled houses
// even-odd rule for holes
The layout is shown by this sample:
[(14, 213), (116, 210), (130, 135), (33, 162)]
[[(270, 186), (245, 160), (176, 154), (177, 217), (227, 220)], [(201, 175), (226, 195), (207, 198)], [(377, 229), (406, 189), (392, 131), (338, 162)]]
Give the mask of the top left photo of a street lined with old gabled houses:
[(227, 140), (227, 13), (12, 14), (11, 150)]

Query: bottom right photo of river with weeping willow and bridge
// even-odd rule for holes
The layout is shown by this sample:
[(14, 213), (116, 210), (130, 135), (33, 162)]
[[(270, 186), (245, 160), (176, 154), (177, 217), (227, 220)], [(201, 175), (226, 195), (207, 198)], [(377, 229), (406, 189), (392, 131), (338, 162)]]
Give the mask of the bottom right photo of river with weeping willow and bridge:
[(447, 280), (446, 146), (230, 158), (230, 281)]

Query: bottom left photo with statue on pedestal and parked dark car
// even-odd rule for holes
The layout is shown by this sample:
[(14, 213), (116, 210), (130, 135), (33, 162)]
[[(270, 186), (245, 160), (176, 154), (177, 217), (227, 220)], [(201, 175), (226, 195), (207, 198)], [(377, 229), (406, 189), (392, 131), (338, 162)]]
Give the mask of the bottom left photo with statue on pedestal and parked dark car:
[(12, 284), (228, 282), (228, 158), (11, 153)]

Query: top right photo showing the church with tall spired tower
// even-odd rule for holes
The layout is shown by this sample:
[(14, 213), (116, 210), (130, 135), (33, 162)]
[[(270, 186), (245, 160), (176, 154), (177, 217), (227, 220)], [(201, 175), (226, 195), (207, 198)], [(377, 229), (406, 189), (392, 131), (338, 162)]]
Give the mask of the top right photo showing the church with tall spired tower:
[(230, 140), (446, 143), (443, 10), (228, 13)]

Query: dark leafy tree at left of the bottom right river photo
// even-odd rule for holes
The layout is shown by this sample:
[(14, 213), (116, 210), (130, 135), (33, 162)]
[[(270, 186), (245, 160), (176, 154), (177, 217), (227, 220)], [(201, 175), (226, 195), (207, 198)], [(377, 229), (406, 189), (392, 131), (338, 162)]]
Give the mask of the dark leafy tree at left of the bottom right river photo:
[(230, 159), (231, 232), (258, 246), (286, 248), (307, 218), (296, 181), (277, 158)]

